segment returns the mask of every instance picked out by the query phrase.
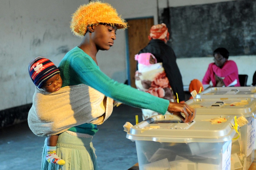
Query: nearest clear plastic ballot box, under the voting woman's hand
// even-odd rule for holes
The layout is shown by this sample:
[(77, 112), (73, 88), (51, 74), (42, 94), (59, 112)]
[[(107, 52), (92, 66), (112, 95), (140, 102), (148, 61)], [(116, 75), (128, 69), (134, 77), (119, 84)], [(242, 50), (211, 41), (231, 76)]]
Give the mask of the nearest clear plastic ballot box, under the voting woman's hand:
[(238, 135), (232, 124), (212, 124), (213, 115), (197, 115), (183, 123), (174, 115), (155, 115), (131, 127), (126, 137), (135, 141), (140, 170), (230, 169), (231, 141)]

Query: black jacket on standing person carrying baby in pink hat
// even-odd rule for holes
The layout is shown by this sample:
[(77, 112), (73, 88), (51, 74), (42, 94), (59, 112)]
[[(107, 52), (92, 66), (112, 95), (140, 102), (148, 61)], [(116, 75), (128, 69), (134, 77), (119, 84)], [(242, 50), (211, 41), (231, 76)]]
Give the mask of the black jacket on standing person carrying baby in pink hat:
[(152, 39), (138, 54), (140, 53), (151, 53), (156, 57), (158, 63), (163, 63), (166, 76), (173, 89), (174, 95), (177, 93), (179, 101), (185, 101), (182, 77), (176, 63), (176, 55), (173, 49), (162, 40)]

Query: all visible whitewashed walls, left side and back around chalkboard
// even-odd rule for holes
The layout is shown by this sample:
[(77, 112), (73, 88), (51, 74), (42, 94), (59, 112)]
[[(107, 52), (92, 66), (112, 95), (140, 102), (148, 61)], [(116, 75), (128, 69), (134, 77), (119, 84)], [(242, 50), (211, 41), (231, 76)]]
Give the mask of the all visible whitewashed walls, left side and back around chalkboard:
[[(71, 14), (89, 0), (1, 0), (0, 5), (0, 110), (31, 103), (34, 84), (29, 78), (28, 63), (45, 56), (56, 65), (65, 53), (79, 45), (81, 38), (69, 29)], [(169, 6), (214, 3), (227, 0), (169, 0)], [(157, 24), (157, 0), (105, 0), (124, 19), (153, 16)], [(167, 1), (159, 0), (159, 8)], [(129, 24), (129, 23), (128, 23)], [(129, 29), (129, 28), (128, 28)], [(117, 31), (109, 51), (98, 53), (98, 64), (108, 76), (124, 82), (127, 79), (126, 35)], [(248, 74), (248, 85), (255, 72), (255, 56), (230, 57), (238, 64), (239, 74)], [(201, 80), (212, 62), (211, 57), (177, 60), (184, 85)], [(248, 67), (249, 66), (249, 67)], [(253, 67), (254, 66), (254, 67)]]

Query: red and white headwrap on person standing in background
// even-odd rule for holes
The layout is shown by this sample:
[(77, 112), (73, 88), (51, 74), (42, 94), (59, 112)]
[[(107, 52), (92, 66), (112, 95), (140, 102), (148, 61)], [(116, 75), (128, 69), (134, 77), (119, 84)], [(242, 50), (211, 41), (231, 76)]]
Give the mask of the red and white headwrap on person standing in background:
[(153, 25), (151, 27), (148, 39), (149, 40), (159, 39), (167, 43), (167, 41), (169, 40), (169, 35), (170, 34), (168, 32), (168, 28), (164, 23), (162, 23), (162, 24)]

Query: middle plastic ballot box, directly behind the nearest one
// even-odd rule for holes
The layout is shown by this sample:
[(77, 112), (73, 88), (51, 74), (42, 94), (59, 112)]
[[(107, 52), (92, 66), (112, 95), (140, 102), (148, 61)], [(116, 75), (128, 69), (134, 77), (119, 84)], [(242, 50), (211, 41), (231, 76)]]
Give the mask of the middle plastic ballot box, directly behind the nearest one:
[(237, 153), (244, 169), (254, 160), (256, 135), (256, 98), (196, 98), (186, 101), (198, 115), (244, 116), (248, 123), (239, 128), (240, 137), (232, 142), (232, 153)]

